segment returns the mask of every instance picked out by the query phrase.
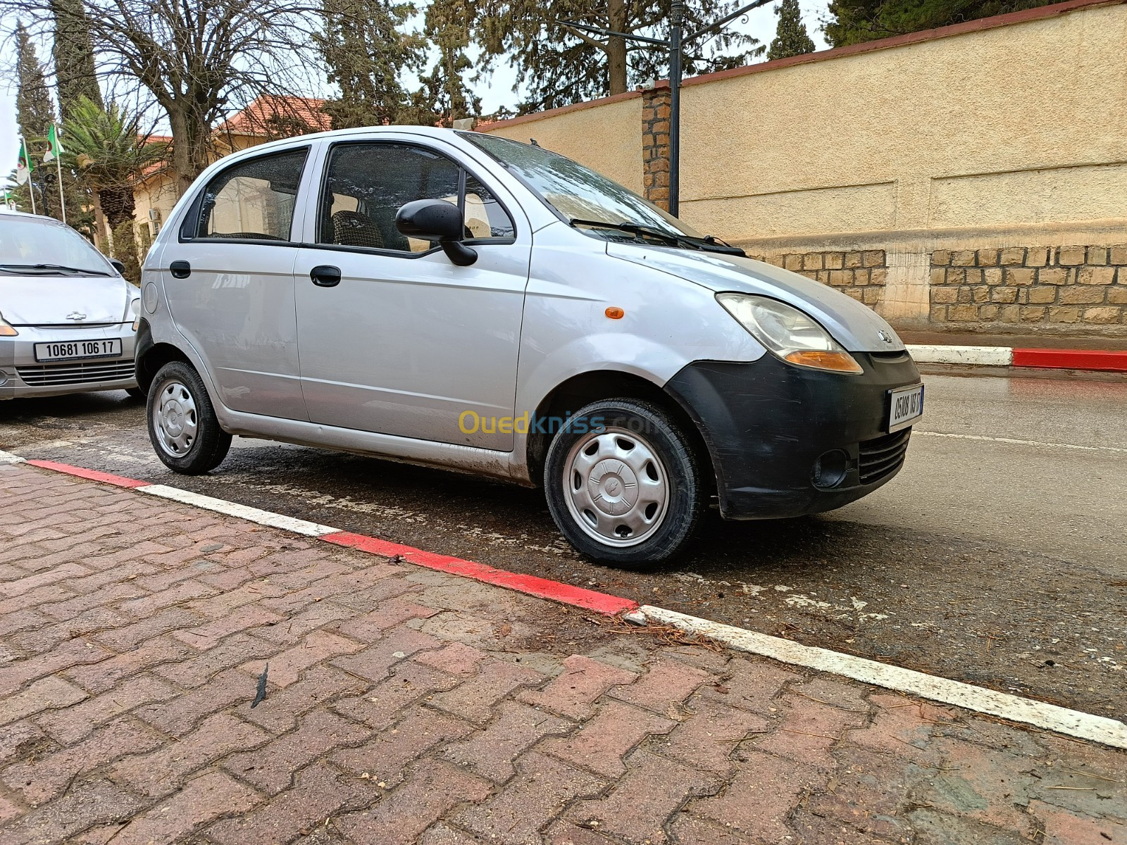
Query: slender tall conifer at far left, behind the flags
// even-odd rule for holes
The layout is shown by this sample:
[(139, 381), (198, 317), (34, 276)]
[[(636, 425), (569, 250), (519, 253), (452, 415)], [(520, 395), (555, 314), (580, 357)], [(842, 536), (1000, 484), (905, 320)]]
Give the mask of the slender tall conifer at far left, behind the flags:
[(27, 145), (27, 154), (35, 168), (26, 185), (20, 185), (16, 192), (16, 201), (24, 211), (32, 210), (32, 186), (35, 186), (35, 210), (39, 214), (61, 216), (57, 194), (51, 196), (52, 189), (57, 192), (55, 174), (43, 166), (43, 152), (47, 146), (47, 130), (55, 121), (55, 107), (51, 101), (51, 89), (47, 87), (43, 64), (35, 52), (35, 45), (23, 24), (16, 25), (16, 72), (19, 87), (16, 92), (16, 122)]

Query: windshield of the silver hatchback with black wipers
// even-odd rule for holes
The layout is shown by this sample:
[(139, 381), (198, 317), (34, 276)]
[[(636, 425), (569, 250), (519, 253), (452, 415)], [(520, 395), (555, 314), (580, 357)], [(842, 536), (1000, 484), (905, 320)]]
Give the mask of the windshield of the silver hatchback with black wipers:
[[(507, 137), (460, 133), (518, 176), (560, 216), (582, 231), (609, 240), (635, 240), (637, 231), (592, 229), (592, 223), (633, 223), (667, 235), (700, 238), (672, 214), (627, 190), (612, 179), (554, 152)], [(576, 223), (576, 221), (582, 221)]]

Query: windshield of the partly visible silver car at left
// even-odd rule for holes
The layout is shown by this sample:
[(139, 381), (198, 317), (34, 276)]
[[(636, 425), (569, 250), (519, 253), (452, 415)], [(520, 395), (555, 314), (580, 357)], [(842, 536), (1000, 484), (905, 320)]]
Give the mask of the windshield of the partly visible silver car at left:
[(116, 275), (101, 254), (70, 226), (15, 214), (0, 214), (0, 272)]

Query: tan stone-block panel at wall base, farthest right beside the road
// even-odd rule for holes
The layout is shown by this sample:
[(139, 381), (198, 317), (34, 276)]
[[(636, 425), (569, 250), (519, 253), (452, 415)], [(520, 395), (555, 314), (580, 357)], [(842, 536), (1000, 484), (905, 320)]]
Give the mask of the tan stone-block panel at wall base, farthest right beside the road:
[(1127, 244), (938, 249), (931, 322), (1127, 326)]

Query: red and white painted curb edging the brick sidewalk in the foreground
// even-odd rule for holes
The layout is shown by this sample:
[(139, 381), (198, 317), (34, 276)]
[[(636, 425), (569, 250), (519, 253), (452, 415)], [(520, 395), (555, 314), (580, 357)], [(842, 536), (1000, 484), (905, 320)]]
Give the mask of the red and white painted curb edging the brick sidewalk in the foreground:
[(354, 534), (330, 525), (295, 519), (283, 514), (260, 510), (247, 505), (227, 501), (225, 499), (215, 499), (211, 496), (203, 496), (176, 487), (153, 484), (148, 481), (139, 481), (97, 470), (87, 470), (81, 466), (71, 466), (54, 461), (29, 461), (0, 451), (0, 464), (6, 463), (26, 463), (29, 466), (38, 466), (90, 481), (133, 489), (137, 492), (159, 496), (162, 499), (192, 505), (227, 516), (234, 516), (272, 528), (294, 532), (383, 558), (399, 557), (408, 563), (472, 578), (473, 580), (492, 584), (497, 587), (516, 590), (517, 593), (536, 596), (538, 598), (547, 598), (606, 615), (621, 614), (623, 619), (637, 624), (654, 622), (673, 625), (685, 632), (722, 642), (733, 649), (769, 657), (780, 662), (790, 664), (791, 666), (801, 666), (808, 669), (831, 673), (864, 684), (896, 690), (942, 704), (995, 715), (1013, 722), (1031, 724), (1037, 728), (1100, 742), (1113, 748), (1127, 748), (1127, 724), (1116, 719), (1092, 715), (1091, 713), (1070, 710), (1056, 704), (1047, 704), (1033, 701), (1032, 699), (1000, 693), (974, 686), (973, 684), (965, 684), (961, 681), (941, 678), (854, 655), (802, 646), (781, 637), (770, 637), (734, 625), (710, 622), (709, 620), (689, 616), (664, 607), (639, 605), (629, 598), (584, 589), (583, 587), (575, 587), (570, 584), (562, 584), (536, 576), (508, 572), (504, 569), (474, 563), (461, 558), (426, 552), (414, 546), (401, 545), (364, 534)]

